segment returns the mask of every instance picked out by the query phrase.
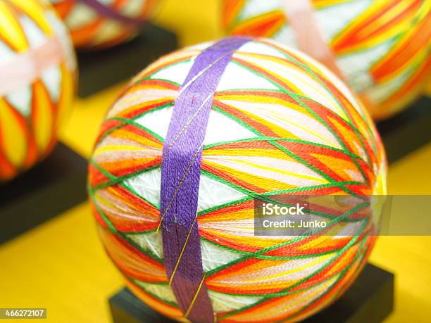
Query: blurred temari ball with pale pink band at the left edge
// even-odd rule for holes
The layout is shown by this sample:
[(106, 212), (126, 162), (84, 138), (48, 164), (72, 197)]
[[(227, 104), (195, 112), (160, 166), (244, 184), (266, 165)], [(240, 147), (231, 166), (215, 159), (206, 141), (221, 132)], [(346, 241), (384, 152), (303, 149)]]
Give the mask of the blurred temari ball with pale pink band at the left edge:
[(75, 92), (75, 56), (54, 9), (0, 1), (0, 182), (46, 156)]

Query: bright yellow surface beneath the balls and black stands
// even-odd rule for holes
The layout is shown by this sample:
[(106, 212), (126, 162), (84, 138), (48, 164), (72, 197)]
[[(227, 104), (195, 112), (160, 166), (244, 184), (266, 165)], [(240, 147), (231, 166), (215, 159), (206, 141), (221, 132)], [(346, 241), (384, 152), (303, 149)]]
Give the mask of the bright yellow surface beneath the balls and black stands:
[[(163, 1), (156, 20), (182, 45), (219, 37), (217, 1)], [(78, 100), (61, 140), (86, 158), (122, 84)], [(431, 194), (431, 144), (389, 167), (389, 194)], [(387, 322), (430, 322), (431, 237), (380, 237), (371, 262), (396, 274)], [(88, 203), (0, 246), (0, 308), (47, 308), (48, 322), (110, 322), (108, 298), (124, 285), (106, 257)], [(20, 320), (19, 322), (25, 322)]]

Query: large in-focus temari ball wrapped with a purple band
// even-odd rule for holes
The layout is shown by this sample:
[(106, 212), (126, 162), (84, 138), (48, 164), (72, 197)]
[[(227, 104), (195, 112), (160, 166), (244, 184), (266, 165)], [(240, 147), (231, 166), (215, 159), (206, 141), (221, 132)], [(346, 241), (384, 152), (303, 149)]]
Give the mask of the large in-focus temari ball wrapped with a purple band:
[(89, 194), (108, 255), (146, 304), (192, 322), (278, 322), (341, 295), (376, 228), (255, 236), (254, 197), (385, 194), (385, 176), (373, 122), (331, 72), (270, 39), (230, 37), (135, 77), (101, 127)]

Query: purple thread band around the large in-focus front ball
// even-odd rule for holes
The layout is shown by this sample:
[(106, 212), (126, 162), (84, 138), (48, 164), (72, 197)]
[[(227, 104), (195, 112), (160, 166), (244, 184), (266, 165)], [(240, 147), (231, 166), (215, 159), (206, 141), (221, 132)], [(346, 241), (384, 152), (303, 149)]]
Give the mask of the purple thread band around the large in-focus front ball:
[(215, 89), (232, 54), (250, 40), (225, 38), (196, 57), (175, 100), (163, 146), (161, 221), (165, 269), (183, 314), (192, 322), (214, 322), (196, 220), (208, 116)]

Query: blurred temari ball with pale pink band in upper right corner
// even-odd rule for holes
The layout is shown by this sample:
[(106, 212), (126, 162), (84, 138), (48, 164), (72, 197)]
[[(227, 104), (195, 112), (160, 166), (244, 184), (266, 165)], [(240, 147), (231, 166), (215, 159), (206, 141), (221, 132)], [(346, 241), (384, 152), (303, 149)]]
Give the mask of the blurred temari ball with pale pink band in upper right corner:
[(336, 65), (377, 120), (423, 91), (430, 24), (428, 0), (223, 0), (229, 34), (270, 37)]

